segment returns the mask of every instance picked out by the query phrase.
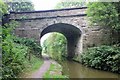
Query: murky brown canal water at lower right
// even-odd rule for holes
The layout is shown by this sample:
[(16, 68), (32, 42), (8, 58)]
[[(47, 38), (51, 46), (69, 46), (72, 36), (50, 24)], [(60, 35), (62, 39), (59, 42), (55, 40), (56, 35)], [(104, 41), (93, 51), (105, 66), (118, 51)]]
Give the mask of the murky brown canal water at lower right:
[(120, 78), (120, 74), (88, 68), (74, 61), (66, 60), (61, 64), (62, 73), (69, 78)]

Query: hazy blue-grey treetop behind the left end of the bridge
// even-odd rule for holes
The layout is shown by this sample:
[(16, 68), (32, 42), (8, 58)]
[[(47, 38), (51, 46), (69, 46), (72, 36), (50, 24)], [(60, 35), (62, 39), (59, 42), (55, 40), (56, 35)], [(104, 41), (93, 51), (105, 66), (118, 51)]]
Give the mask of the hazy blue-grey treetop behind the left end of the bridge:
[(7, 2), (8, 10), (15, 11), (15, 12), (22, 12), (22, 11), (32, 11), (34, 10), (34, 5), (30, 0), (12, 0)]

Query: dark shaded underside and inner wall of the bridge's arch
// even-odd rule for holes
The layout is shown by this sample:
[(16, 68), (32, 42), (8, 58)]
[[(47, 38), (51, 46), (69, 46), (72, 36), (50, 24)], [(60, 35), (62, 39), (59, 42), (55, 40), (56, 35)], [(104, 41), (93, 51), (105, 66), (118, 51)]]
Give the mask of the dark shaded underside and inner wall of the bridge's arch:
[(68, 57), (73, 58), (76, 52), (76, 48), (78, 47), (78, 41), (81, 36), (80, 29), (70, 24), (57, 23), (45, 28), (41, 32), (40, 38), (49, 32), (59, 32), (66, 37), (68, 42), (67, 43)]

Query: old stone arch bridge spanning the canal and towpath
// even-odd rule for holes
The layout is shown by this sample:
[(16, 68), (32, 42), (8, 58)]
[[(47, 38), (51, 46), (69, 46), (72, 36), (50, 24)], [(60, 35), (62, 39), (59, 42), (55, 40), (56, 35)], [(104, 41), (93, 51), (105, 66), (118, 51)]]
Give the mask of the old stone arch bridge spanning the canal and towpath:
[[(86, 7), (60, 10), (11, 12), (4, 17), (20, 23), (15, 34), (20, 37), (40, 38), (49, 32), (62, 33), (67, 39), (68, 57), (80, 54), (88, 47), (111, 44), (110, 29), (88, 25)], [(3, 19), (3, 22), (5, 22)]]

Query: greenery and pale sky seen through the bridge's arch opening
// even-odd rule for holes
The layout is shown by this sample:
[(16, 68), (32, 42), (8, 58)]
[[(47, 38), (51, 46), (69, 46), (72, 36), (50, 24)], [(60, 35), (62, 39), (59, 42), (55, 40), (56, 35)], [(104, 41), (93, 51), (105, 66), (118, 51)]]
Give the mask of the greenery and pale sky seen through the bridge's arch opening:
[(50, 32), (40, 39), (42, 47), (42, 55), (55, 59), (62, 60), (62, 56), (67, 55), (67, 39), (58, 32)]

